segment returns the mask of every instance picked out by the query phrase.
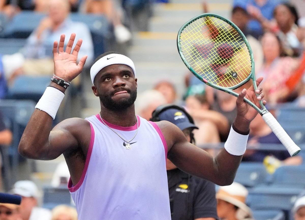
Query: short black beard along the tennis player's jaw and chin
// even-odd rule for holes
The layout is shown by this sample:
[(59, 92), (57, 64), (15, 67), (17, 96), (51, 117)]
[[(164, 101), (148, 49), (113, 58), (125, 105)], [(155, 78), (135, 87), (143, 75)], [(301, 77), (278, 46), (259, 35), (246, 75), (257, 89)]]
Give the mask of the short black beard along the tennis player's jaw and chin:
[(111, 110), (111, 111), (121, 111), (125, 110), (126, 108), (130, 107), (132, 104), (135, 103), (135, 100), (137, 98), (137, 90), (127, 90), (127, 92), (130, 94), (129, 98), (122, 98), (118, 101), (114, 101), (111, 99), (111, 95), (101, 95), (99, 97), (99, 100), (102, 102), (102, 105)]

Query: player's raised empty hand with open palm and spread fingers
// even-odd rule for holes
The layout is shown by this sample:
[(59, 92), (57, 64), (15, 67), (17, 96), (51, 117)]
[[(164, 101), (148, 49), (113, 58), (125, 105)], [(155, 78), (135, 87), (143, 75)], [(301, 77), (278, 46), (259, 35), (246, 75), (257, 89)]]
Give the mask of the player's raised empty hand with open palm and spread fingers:
[[(70, 82), (76, 76), (78, 76), (83, 70), (84, 64), (88, 56), (83, 56), (76, 64), (77, 55), (81, 48), (82, 39), (79, 39), (71, 53), (72, 46), (75, 40), (75, 33), (72, 33), (70, 40), (66, 46), (66, 51), (63, 51), (65, 43), (65, 35), (60, 35), (59, 44), (54, 41), (53, 44), (53, 59), (54, 59), (54, 74), (65, 81)], [(57, 52), (58, 47), (58, 52)], [(71, 53), (71, 54), (70, 54)]]

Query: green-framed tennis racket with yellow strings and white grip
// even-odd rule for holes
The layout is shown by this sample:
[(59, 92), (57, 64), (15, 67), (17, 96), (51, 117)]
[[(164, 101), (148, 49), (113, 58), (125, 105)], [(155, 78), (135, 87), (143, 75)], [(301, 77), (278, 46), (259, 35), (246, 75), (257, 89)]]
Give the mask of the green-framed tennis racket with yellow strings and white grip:
[[(250, 79), (257, 89), (250, 45), (242, 31), (223, 16), (205, 13), (189, 20), (179, 30), (177, 46), (184, 64), (203, 83), (236, 97), (239, 94), (233, 90)], [(300, 152), (262, 101), (261, 108), (244, 101), (262, 115), (291, 156)]]

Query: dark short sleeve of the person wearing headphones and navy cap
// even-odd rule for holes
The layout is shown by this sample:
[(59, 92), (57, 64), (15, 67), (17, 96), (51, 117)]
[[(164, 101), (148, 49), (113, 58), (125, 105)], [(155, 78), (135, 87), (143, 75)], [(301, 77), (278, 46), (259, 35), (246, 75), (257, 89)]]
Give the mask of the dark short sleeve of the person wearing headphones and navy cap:
[(195, 200), (193, 202), (195, 220), (217, 219), (217, 202), (215, 198), (215, 185), (210, 181), (199, 180), (196, 186)]

